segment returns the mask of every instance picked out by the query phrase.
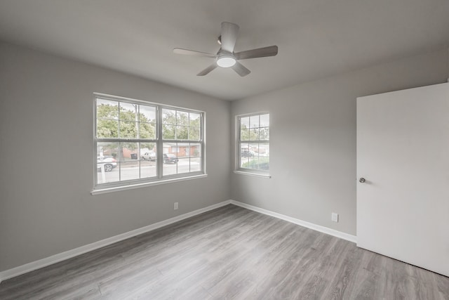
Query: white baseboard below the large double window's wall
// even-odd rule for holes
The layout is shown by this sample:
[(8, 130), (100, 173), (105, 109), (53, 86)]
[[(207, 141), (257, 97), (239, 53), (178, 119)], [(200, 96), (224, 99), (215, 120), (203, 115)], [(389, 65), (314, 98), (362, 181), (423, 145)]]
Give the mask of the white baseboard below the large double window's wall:
[(59, 254), (55, 254), (52, 256), (48, 256), (45, 259), (39, 259), (39, 261), (32, 261), (31, 263), (25, 263), (25, 265), (18, 266), (9, 270), (4, 270), (0, 272), (0, 282), (2, 280), (7, 280), (9, 278), (16, 277), (18, 275), (22, 275), (28, 272), (31, 272), (32, 270), (37, 270), (39, 268), (43, 268), (46, 266), (49, 266), (53, 263), (58, 263), (60, 261), (64, 261), (66, 259), (71, 259), (74, 256), (78, 256), (81, 254), (84, 254), (86, 252), (93, 251), (95, 249), (99, 249), (101, 247), (105, 247), (109, 244), (114, 244), (114, 242), (120, 242), (121, 240), (126, 240), (130, 237), (135, 237), (136, 235), (140, 235), (142, 233), (147, 233), (148, 231), (161, 228), (163, 226), (170, 225), (172, 223), (175, 223), (177, 221), (182, 221), (184, 219), (190, 218), (192, 216), (196, 216), (198, 214), (202, 214), (203, 212), (210, 211), (213, 209), (217, 209), (219, 207), (223, 207), (227, 204), (230, 204), (231, 201), (227, 200), (224, 202), (220, 202), (217, 204), (210, 205), (208, 207), (204, 207), (202, 209), (197, 209), (196, 211), (188, 212), (187, 214), (182, 214), (180, 216), (175, 216), (173, 218), (160, 221), (154, 224), (151, 224), (149, 226), (145, 226), (142, 228), (138, 228), (135, 230), (128, 231), (127, 233), (121, 233), (120, 235), (115, 235), (113, 237), (108, 237), (105, 240), (99, 240), (98, 242), (93, 242), (92, 244), (86, 244), (84, 246), (68, 250), (66, 252), (62, 252)]

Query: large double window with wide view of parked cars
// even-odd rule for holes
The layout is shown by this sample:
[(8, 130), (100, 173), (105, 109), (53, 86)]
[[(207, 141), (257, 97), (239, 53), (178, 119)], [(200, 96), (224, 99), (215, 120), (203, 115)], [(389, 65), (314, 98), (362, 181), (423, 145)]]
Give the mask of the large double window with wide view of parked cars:
[(204, 174), (204, 112), (95, 94), (95, 188)]

